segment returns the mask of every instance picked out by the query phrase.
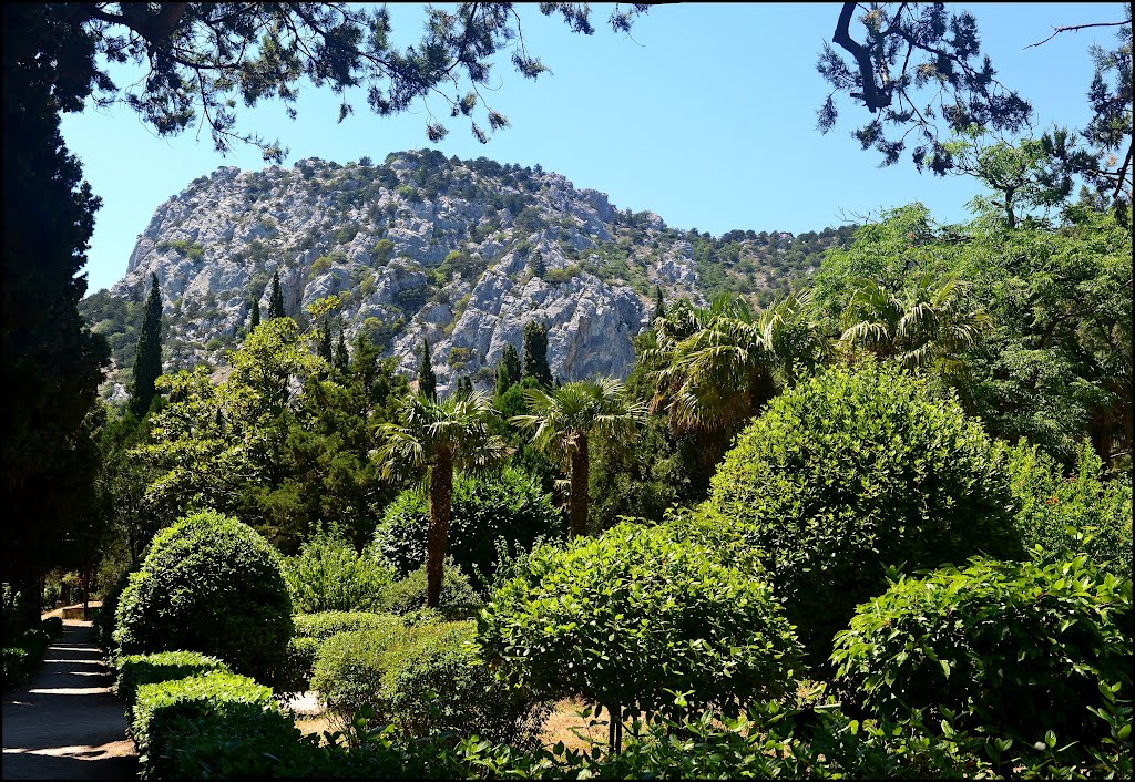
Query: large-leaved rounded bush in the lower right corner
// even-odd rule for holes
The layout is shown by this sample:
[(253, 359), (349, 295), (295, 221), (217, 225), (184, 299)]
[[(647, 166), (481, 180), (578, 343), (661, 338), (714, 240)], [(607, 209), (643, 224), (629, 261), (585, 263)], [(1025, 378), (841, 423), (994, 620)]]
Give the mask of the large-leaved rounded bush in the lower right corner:
[(834, 684), (865, 712), (1026, 745), (1099, 745), (1100, 684), (1132, 683), (1132, 582), (1086, 557), (1043, 565), (975, 558), (965, 570), (901, 578), (839, 633)]

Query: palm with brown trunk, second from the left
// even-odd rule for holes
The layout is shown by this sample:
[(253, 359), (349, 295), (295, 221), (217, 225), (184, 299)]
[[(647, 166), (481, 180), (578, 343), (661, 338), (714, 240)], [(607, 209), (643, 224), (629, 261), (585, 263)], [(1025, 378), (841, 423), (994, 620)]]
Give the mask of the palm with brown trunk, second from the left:
[(569, 471), (569, 528), (571, 537), (587, 535), (588, 443), (595, 435), (624, 436), (646, 418), (646, 406), (627, 398), (615, 378), (577, 380), (552, 392), (526, 388), (530, 415), (510, 419), (533, 429), (536, 447), (557, 457)]

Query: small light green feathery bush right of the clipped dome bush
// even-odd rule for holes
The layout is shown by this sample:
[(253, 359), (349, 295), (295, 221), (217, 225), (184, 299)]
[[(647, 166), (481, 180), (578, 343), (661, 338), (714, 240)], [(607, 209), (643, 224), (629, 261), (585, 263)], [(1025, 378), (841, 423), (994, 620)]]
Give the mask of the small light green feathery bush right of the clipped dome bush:
[(371, 611), (381, 603), (394, 574), (347, 540), (317, 535), (284, 561), (292, 606), (300, 614)]

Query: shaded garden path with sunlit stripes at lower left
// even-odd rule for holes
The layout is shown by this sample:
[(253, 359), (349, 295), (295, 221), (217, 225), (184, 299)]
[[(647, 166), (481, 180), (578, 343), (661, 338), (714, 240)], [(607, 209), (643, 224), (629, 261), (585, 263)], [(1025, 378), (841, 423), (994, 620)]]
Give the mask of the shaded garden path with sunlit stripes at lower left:
[(137, 779), (112, 682), (92, 623), (65, 622), (43, 665), (3, 696), (3, 779)]

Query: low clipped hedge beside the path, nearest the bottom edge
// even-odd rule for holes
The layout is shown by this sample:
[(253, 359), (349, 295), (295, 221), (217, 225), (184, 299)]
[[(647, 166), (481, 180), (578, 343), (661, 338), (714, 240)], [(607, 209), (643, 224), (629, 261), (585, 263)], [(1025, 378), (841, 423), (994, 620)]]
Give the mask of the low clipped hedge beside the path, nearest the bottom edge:
[(235, 751), (243, 742), (257, 743), (266, 735), (281, 741), (300, 735), (269, 688), (224, 671), (142, 684), (128, 733), (137, 748), (142, 779), (203, 779), (207, 774), (187, 773), (194, 765), (185, 757), (187, 750), (195, 754), (195, 764), (216, 763), (217, 743), (227, 741), (226, 751)]

